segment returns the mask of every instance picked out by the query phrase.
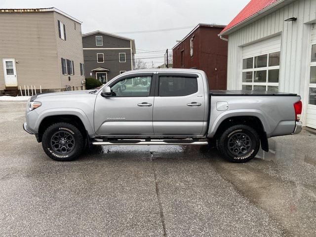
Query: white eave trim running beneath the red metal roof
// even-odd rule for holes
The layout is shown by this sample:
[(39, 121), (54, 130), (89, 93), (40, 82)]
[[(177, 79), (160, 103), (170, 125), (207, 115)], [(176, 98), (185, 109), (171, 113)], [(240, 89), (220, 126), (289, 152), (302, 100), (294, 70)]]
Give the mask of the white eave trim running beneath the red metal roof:
[[(269, 10), (271, 10), (272, 8), (275, 8), (274, 11), (282, 8), (284, 6), (284, 4), (280, 5), (280, 3), (289, 4), (289, 3), (293, 2), (293, 1), (295, 1), (295, 0), (279, 0), (279, 1), (276, 1), (276, 2), (272, 3), (271, 5), (265, 7), (261, 11), (258, 11), (257, 13), (255, 13), (252, 16), (248, 17), (247, 19), (239, 22), (235, 26), (229, 28), (228, 30), (226, 30), (224, 32), (221, 32), (220, 34), (218, 34), (218, 36), (229, 35), (229, 34), (235, 32), (235, 31), (239, 30), (240, 28), (243, 28), (244, 26), (246, 26), (247, 25), (246, 23), (251, 23), (251, 22), (255, 21), (256, 18), (261, 18), (261, 17), (264, 17), (264, 16), (270, 14), (271, 12), (269, 12), (266, 15), (264, 13), (266, 13)], [(279, 7), (276, 8), (276, 6), (279, 6)]]

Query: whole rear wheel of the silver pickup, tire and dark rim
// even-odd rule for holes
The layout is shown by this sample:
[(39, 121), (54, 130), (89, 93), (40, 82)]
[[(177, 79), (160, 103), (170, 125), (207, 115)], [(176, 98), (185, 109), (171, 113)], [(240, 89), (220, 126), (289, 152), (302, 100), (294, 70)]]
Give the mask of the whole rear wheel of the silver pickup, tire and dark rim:
[(247, 162), (260, 148), (258, 133), (250, 126), (239, 124), (227, 128), (217, 140), (220, 154), (230, 162)]

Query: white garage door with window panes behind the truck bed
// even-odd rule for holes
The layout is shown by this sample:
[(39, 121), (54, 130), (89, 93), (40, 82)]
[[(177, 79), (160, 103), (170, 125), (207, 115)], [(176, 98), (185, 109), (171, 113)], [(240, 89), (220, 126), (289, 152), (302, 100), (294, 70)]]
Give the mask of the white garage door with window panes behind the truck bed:
[(281, 36), (242, 47), (243, 90), (278, 91)]

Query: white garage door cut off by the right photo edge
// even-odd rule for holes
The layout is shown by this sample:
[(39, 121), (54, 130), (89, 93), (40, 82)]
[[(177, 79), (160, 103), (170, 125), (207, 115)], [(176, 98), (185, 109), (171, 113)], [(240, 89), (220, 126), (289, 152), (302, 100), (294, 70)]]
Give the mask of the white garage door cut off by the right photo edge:
[(306, 114), (306, 126), (316, 128), (316, 27), (312, 29), (312, 52), (310, 62), (310, 77), (308, 88), (308, 105)]

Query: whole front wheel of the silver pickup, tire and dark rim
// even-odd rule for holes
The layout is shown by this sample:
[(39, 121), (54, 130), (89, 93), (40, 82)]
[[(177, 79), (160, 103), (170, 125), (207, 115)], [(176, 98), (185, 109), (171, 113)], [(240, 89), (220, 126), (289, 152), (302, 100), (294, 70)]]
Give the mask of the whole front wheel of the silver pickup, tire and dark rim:
[(84, 139), (73, 124), (58, 122), (44, 131), (41, 144), (48, 157), (58, 161), (71, 161), (82, 153)]

